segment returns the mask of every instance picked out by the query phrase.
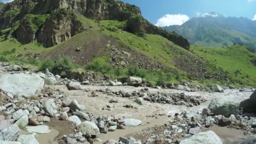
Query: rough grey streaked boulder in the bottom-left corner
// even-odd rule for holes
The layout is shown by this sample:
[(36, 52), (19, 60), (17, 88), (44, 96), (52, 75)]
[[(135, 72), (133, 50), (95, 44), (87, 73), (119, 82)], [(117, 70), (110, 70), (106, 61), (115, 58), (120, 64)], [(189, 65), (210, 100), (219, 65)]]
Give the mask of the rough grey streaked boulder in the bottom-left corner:
[(18, 125), (11, 125), (0, 131), (0, 141), (16, 141), (19, 138), (21, 130)]

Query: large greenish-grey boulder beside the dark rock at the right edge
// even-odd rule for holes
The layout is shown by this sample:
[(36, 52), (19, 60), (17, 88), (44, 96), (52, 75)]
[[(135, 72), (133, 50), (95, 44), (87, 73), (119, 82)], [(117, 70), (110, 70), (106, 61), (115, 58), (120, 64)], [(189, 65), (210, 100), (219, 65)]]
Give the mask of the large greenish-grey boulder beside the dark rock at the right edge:
[(219, 96), (211, 101), (208, 109), (215, 115), (238, 115), (239, 102), (232, 101), (228, 97)]

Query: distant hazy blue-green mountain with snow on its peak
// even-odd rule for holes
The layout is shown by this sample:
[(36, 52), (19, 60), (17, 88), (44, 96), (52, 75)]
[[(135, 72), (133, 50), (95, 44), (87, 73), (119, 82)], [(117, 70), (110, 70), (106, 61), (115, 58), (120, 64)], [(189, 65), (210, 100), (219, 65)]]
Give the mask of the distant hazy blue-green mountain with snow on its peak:
[(222, 47), (242, 43), (256, 49), (256, 21), (207, 13), (194, 17), (181, 26), (162, 27), (187, 38), (193, 45)]

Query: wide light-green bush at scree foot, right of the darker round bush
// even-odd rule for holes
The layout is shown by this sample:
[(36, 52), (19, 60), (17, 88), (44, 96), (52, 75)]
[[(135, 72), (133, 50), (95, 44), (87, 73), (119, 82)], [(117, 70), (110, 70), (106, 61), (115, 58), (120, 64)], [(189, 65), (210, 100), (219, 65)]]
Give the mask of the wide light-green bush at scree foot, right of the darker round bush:
[(102, 58), (96, 58), (93, 61), (89, 62), (85, 69), (91, 70), (93, 72), (101, 72), (104, 74), (111, 74), (113, 67), (108, 64), (104, 59)]

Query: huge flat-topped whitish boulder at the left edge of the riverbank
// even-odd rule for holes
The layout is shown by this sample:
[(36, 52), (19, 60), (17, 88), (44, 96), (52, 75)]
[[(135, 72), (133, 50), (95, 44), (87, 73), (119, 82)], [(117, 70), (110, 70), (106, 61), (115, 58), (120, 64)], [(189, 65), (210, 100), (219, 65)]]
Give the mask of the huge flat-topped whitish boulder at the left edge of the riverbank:
[(33, 96), (37, 91), (41, 91), (43, 86), (44, 80), (36, 74), (7, 74), (0, 77), (0, 89), (13, 94)]

